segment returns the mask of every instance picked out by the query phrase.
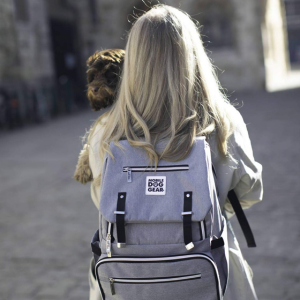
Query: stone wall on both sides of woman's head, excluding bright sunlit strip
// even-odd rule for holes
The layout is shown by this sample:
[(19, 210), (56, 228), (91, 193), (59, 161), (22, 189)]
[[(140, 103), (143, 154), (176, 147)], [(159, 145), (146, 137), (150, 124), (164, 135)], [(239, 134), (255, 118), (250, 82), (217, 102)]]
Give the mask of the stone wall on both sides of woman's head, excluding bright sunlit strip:
[[(131, 26), (128, 20), (133, 20), (134, 11), (138, 14), (139, 9), (146, 9), (145, 5), (139, 0), (101, 0), (98, 2), (100, 32), (98, 38), (95, 39), (95, 47), (124, 47), (127, 31)], [(210, 57), (219, 69), (220, 81), (229, 91), (264, 88), (265, 75), (259, 0), (230, 0), (226, 2), (221, 0), (165, 0), (164, 3), (188, 12), (196, 21), (200, 22), (200, 25), (204, 25), (201, 29), (204, 33), (206, 33), (205, 27), (209, 26), (207, 20), (211, 18), (211, 23), (214, 23), (220, 17), (224, 17), (224, 8), (226, 8), (228, 14), (218, 26), (230, 28), (229, 33), (227, 32), (227, 38), (228, 35), (231, 35), (229, 37), (231, 41), (219, 41), (215, 38), (211, 44), (205, 43)], [(213, 29), (218, 30), (218, 28)], [(209, 33), (207, 34), (206, 40), (209, 41)], [(221, 35), (220, 38), (223, 36)]]

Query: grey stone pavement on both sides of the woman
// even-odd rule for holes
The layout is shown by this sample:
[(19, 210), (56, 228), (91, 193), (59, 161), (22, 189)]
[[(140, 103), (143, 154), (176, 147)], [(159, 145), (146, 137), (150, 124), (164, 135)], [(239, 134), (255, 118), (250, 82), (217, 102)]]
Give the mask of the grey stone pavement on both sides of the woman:
[[(300, 294), (300, 91), (233, 94), (263, 164), (264, 201), (246, 213), (258, 247), (244, 256), (260, 300)], [(72, 179), (84, 112), (0, 135), (0, 299), (88, 299), (90, 238), (98, 214), (89, 186)]]

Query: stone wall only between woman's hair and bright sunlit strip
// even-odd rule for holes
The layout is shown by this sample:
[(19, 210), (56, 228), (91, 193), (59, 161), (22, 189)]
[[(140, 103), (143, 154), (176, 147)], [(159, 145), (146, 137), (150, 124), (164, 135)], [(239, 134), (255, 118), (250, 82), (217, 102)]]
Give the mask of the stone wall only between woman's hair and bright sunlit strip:
[[(174, 1), (170, 0), (170, 2)], [(223, 16), (223, 22), (219, 24), (219, 28), (230, 28), (230, 32), (227, 33), (227, 38), (229, 36), (231, 38), (230, 43), (224, 40), (215, 47), (213, 41), (207, 44), (214, 64), (220, 69), (218, 73), (222, 85), (230, 91), (262, 89), (264, 87), (264, 61), (259, 1), (190, 0), (189, 2), (190, 4), (185, 1), (186, 7), (182, 6), (182, 8), (191, 15), (196, 15), (195, 18), (200, 25), (203, 24), (202, 18), (204, 19), (204, 16), (202, 18), (201, 16), (208, 14), (208, 18), (213, 19), (212, 23)], [(206, 5), (201, 5), (201, 2)], [(213, 13), (214, 11), (216, 12)], [(204, 23), (204, 34), (206, 34), (205, 25)], [(223, 34), (225, 37), (222, 37), (222, 33), (217, 38), (225, 39), (226, 31)], [(208, 40), (210, 34), (213, 32), (207, 33)]]

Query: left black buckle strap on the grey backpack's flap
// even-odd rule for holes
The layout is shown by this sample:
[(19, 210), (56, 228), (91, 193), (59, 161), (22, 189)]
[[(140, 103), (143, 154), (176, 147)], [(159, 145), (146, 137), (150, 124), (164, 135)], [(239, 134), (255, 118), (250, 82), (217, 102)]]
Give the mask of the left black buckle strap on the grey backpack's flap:
[(117, 225), (117, 241), (118, 248), (124, 247), (126, 245), (125, 236), (125, 201), (126, 193), (118, 193), (117, 211), (116, 214), (116, 225)]

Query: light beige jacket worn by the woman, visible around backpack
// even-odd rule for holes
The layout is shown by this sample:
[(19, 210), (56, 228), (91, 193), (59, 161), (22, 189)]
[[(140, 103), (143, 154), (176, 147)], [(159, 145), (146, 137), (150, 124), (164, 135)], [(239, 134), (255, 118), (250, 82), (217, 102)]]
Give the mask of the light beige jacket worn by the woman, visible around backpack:
[[(235, 130), (229, 138), (229, 153), (236, 160), (224, 161), (217, 149), (215, 136), (212, 135), (208, 142), (211, 147), (212, 162), (217, 173), (217, 184), (220, 193), (220, 206), (226, 211), (230, 218), (233, 209), (226, 198), (229, 190), (235, 190), (241, 205), (244, 209), (262, 200), (262, 166), (253, 157), (252, 146), (248, 131), (240, 113), (235, 110)], [(103, 123), (105, 120), (103, 120)], [(97, 134), (92, 139), (89, 147), (89, 162), (96, 178), (102, 168), (102, 161), (98, 154), (99, 137), (103, 132), (103, 124), (96, 128)], [(100, 187), (91, 183), (91, 197), (98, 208), (100, 201)], [(229, 222), (228, 222), (229, 223)], [(229, 224), (228, 243), (230, 253), (230, 272), (225, 300), (252, 300), (257, 299), (252, 283), (252, 271), (247, 262), (243, 259), (239, 244)], [(90, 273), (91, 274), (91, 273)], [(90, 276), (90, 300), (101, 299), (95, 279)]]

